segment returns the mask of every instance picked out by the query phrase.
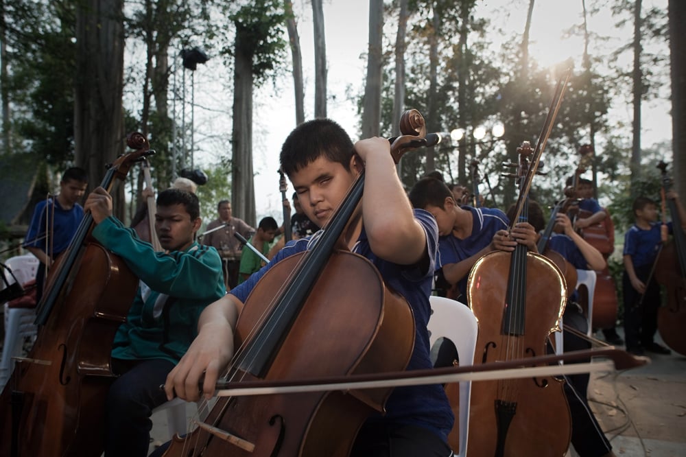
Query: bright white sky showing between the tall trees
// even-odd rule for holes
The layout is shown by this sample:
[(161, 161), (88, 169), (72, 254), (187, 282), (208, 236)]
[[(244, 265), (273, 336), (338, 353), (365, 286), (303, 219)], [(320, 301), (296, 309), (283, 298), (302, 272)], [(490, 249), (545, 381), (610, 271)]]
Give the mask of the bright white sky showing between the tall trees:
[[(655, 2), (662, 4), (664, 1)], [(587, 3), (591, 3), (587, 1)], [(650, 1), (644, 1), (648, 8)], [(526, 21), (528, 0), (486, 0), (480, 2), (494, 27), (503, 27), (509, 34), (521, 34)], [(495, 13), (503, 5), (512, 5), (507, 13)], [(310, 119), (314, 113), (314, 50), (311, 25), (311, 5), (306, 0), (295, 0), (294, 9), (298, 21), (298, 34), (302, 47), (305, 66), (305, 117)], [(554, 65), (570, 56), (578, 62), (582, 54), (581, 37), (562, 39), (564, 30), (573, 23), (581, 23), (581, 1), (539, 0), (534, 8), (532, 31), (530, 34), (530, 56), (542, 66)], [(355, 104), (348, 100), (346, 89), (352, 86), (355, 92), (364, 86), (365, 62), (360, 58), (366, 52), (368, 41), (368, 1), (363, 0), (324, 0), (324, 29), (327, 41), (328, 78), (328, 115), (338, 121), (356, 139), (357, 117)], [(589, 30), (600, 35), (617, 36), (615, 21), (609, 12), (589, 19)], [(507, 38), (505, 35), (504, 38)], [(490, 37), (496, 42), (496, 37)], [(624, 38), (622, 41), (626, 40)], [(613, 38), (607, 46), (617, 47), (619, 38)], [(591, 51), (593, 52), (593, 51)], [(213, 134), (230, 134), (230, 86), (222, 91), (204, 90), (216, 84), (218, 74), (226, 73), (219, 59), (211, 59), (196, 71), (196, 162), (208, 165), (216, 161), (217, 154), (230, 151), (230, 144), (217, 142)], [(206, 78), (215, 82), (204, 83)], [(189, 95), (187, 95), (189, 97)], [(669, 107), (644, 106), (643, 145), (670, 139), (672, 136)], [(268, 83), (259, 90), (253, 108), (253, 147), (255, 169), (255, 192), (257, 195), (257, 219), (273, 215), (281, 220), (281, 194), (279, 193), (279, 150), (287, 134), (295, 126), (294, 92), (292, 78), (282, 78), (276, 87)], [(187, 115), (187, 121), (189, 121)], [(613, 117), (630, 124), (631, 106), (622, 104), (613, 110)], [(204, 133), (200, 133), (204, 132)], [(219, 146), (217, 146), (217, 144)], [(288, 195), (292, 194), (289, 187)]]

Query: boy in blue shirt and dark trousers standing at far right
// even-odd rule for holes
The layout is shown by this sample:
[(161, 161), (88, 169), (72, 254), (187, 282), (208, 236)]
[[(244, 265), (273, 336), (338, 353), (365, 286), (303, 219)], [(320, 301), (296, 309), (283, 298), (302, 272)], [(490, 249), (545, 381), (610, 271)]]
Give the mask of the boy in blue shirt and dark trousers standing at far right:
[[(686, 226), (686, 212), (674, 191), (667, 198), (676, 202), (682, 224)], [(635, 223), (624, 234), (624, 340), (626, 350), (637, 355), (643, 351), (669, 354), (671, 351), (654, 342), (657, 331), (657, 309), (660, 307), (660, 288), (650, 270), (661, 243), (667, 241), (661, 235), (657, 222), (657, 204), (647, 197), (638, 197), (632, 205)], [(672, 222), (667, 224), (672, 233)]]

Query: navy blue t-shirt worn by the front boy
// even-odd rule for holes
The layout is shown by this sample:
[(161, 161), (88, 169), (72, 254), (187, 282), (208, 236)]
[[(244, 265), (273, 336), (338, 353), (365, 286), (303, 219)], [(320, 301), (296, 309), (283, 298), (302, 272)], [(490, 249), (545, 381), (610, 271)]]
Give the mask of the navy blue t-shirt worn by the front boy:
[[(429, 358), (429, 332), (427, 323), (431, 314), (429, 295), (431, 294), (431, 281), (434, 277), (434, 262), (438, 242), (438, 226), (434, 217), (423, 209), (415, 209), (414, 217), (423, 226), (427, 239), (429, 252), (429, 268), (422, 272), (416, 265), (399, 265), (383, 259), (379, 259), (369, 246), (364, 231), (359, 235), (353, 252), (369, 259), (381, 273), (383, 281), (389, 288), (401, 294), (412, 307), (414, 313), (415, 338), (414, 351), (407, 370), (432, 368)], [(245, 303), (248, 295), (255, 287), (257, 281), (272, 266), (279, 261), (307, 250), (316, 242), (319, 231), (312, 237), (297, 239), (281, 249), (274, 259), (258, 272), (252, 274), (244, 283), (233, 288), (229, 293), (235, 295)], [(432, 384), (429, 386), (397, 387), (393, 389), (386, 402), (386, 414), (383, 417), (370, 417), (369, 421), (388, 421), (406, 423), (425, 427), (440, 434), (447, 439), (447, 434), (453, 427), (453, 412), (445, 396), (442, 386)]]

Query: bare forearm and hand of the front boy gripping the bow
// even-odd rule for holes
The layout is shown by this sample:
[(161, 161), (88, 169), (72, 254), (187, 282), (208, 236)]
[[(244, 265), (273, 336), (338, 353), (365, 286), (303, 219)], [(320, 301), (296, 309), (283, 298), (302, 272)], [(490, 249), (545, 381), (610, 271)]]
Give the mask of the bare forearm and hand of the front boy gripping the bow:
[(171, 400), (176, 395), (188, 401), (198, 401), (203, 375), (202, 394), (207, 398), (214, 394), (220, 372), (233, 357), (233, 333), (242, 307), (243, 303), (238, 298), (226, 294), (202, 311), (198, 320), (198, 336), (167, 375), (167, 399)]

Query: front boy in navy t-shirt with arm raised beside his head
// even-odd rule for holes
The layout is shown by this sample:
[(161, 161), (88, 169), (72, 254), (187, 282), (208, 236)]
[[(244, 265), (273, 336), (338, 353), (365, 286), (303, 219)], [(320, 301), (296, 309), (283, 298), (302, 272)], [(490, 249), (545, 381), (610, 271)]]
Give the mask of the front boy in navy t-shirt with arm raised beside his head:
[[(370, 260), (383, 281), (412, 307), (415, 339), (407, 370), (431, 368), (427, 322), (436, 222), (426, 211), (413, 211), (396, 174), (388, 140), (365, 139), (353, 149), (350, 137), (338, 124), (316, 119), (289, 134), (281, 150), (281, 166), (307, 216), (322, 227), (364, 168), (364, 195), (341, 239), (353, 253)], [(203, 374), (202, 392), (208, 396), (214, 392), (220, 371), (233, 357), (233, 334), (248, 294), (272, 266), (309, 249), (316, 237), (289, 243), (267, 266), (205, 309), (198, 338), (167, 377), (169, 399), (174, 392), (185, 399), (198, 399), (196, 387)], [(335, 309), (331, 313), (333, 316)], [(372, 414), (362, 425), (351, 456), (448, 457), (447, 434), (452, 425), (453, 414), (442, 386), (395, 388), (386, 402), (386, 414)]]

